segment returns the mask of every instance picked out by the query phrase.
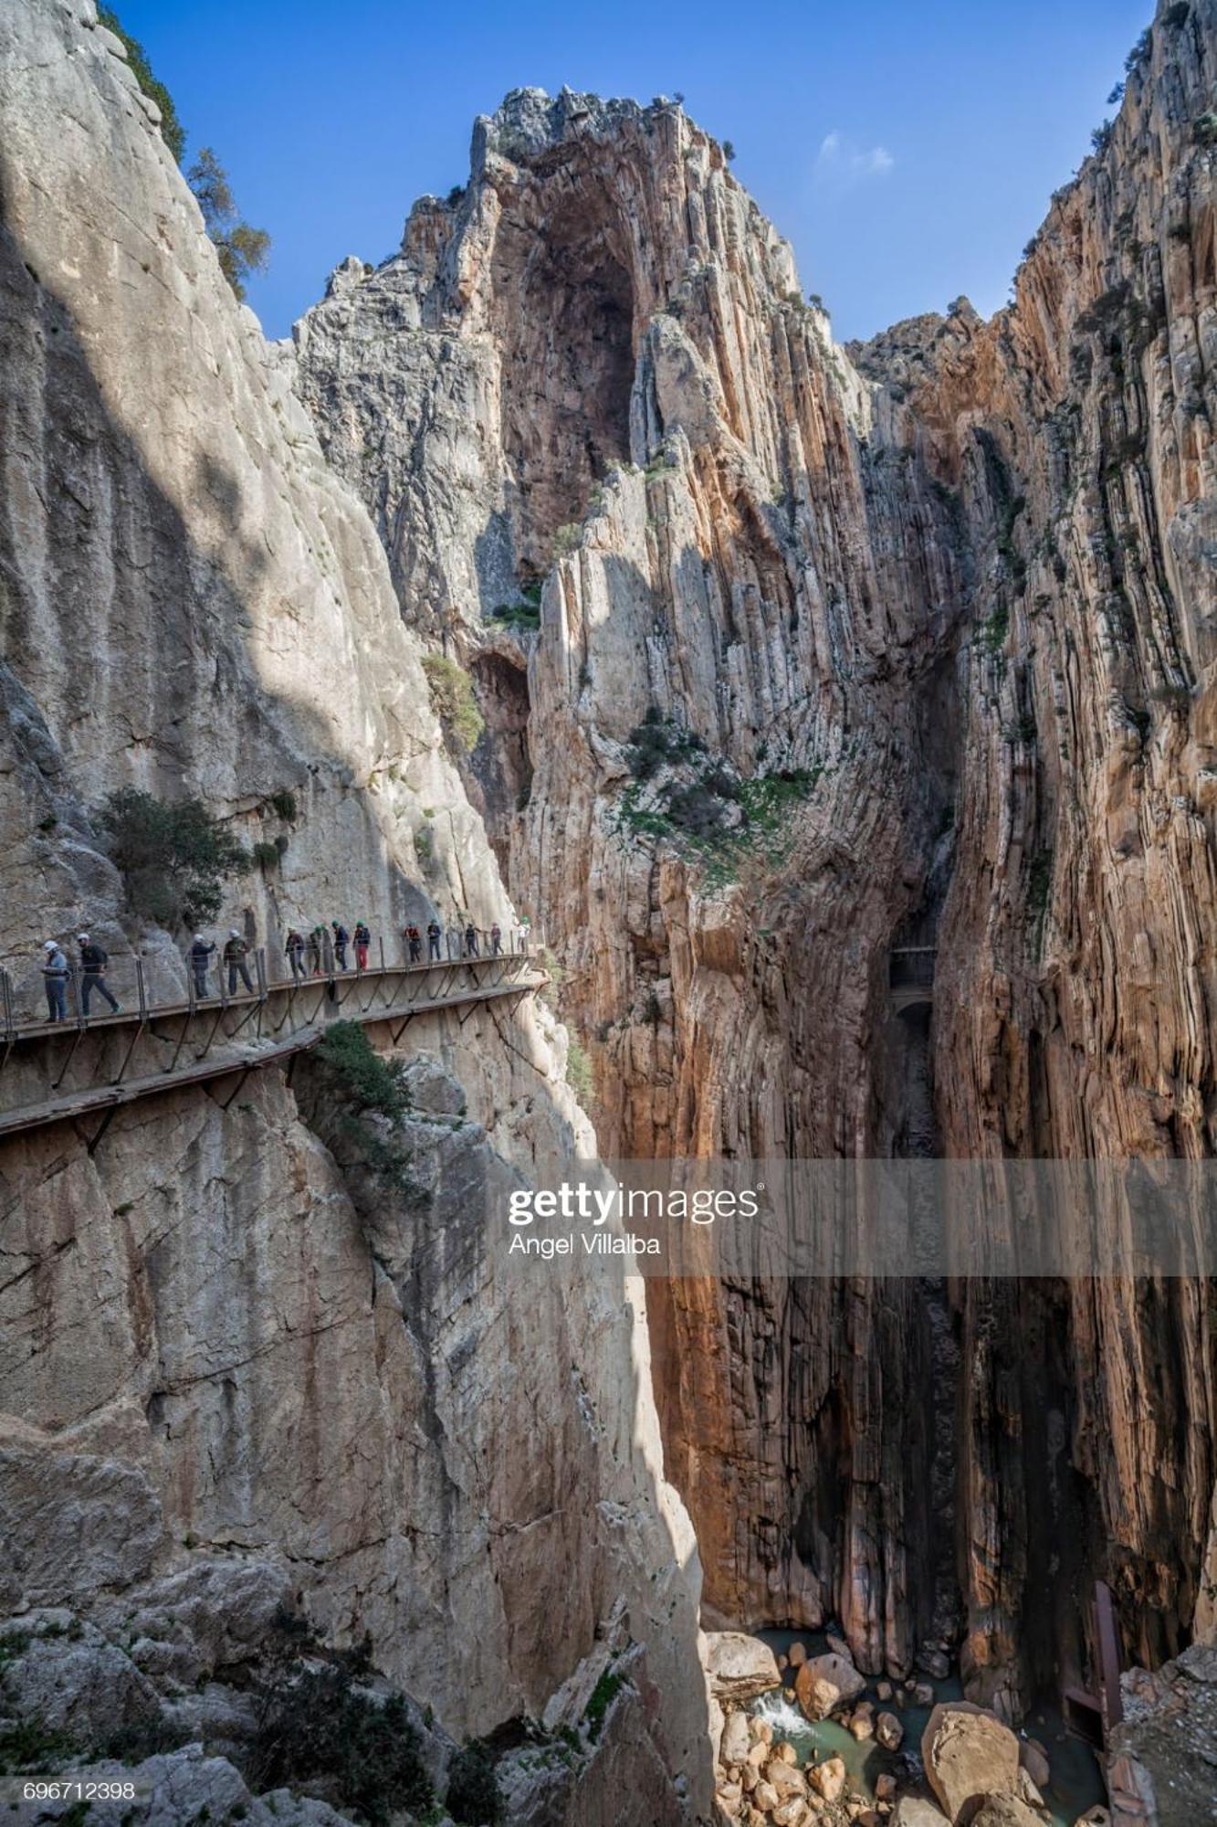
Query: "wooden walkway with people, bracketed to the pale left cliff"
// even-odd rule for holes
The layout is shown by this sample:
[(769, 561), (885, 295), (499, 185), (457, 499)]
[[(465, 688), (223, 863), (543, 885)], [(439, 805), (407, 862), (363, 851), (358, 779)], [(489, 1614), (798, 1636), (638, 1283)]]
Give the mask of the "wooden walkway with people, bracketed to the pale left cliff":
[[(389, 1023), (397, 1045), (417, 1016), (455, 1009), (464, 1023), (475, 1007), (532, 994), (545, 983), (548, 976), (535, 954), (510, 952), (272, 983), (254, 994), (161, 1003), (88, 1021), (22, 1023), (4, 1032), (0, 1136), (101, 1113), (91, 1151), (122, 1105), (206, 1080), (234, 1074), (245, 1080), (249, 1072), (314, 1047), (333, 1021)], [(157, 1058), (141, 1061), (141, 1052)], [(9, 1107), (5, 1078), (16, 1091), (18, 1069), (31, 1061), (46, 1069), (46, 1096), (22, 1098)], [(148, 1063), (155, 1069), (148, 1071)], [(84, 1083), (68, 1083), (73, 1065), (84, 1072)], [(22, 1080), (27, 1089), (29, 1074)], [(227, 1102), (238, 1091), (239, 1085)]]

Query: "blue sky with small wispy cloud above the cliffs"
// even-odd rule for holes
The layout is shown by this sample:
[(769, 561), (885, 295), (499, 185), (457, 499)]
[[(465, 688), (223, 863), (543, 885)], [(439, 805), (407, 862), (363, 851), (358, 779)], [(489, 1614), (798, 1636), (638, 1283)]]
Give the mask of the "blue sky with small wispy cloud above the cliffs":
[(1151, 0), (117, 0), (190, 148), (270, 230), (250, 303), (283, 336), (345, 256), (468, 174), (470, 128), (523, 84), (683, 93), (793, 241), (841, 338), (994, 311), (1089, 150)]

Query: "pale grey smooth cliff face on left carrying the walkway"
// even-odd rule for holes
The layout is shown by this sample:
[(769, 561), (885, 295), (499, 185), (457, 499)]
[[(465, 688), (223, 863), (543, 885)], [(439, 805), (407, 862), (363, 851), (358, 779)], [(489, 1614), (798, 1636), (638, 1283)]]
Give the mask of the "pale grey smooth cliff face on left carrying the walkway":
[[(506, 919), (375, 528), (119, 53), (90, 0), (0, 20), (5, 963), (20, 976), (88, 915), (111, 952), (144, 950), (153, 987), (179, 977), (95, 839), (124, 784), (197, 793), (247, 837), (294, 793), (281, 871), (225, 910), (272, 961), (287, 924), (334, 912)], [(371, 1633), (459, 1734), (577, 1721), (619, 1657), (603, 1756), (521, 1807), (694, 1818), (696, 1549), (663, 1482), (641, 1290), (506, 1284), (484, 1228), (488, 1188), (592, 1146), (565, 1036), (526, 1003), (426, 1018), (404, 1045), (411, 1200), (351, 1155), (307, 1072), (141, 1104), (95, 1151), (71, 1127), (4, 1147), (0, 1599), (88, 1613), (115, 1694), (153, 1681), (179, 1712), (259, 1653), (283, 1599), (334, 1642)], [(192, 1580), (212, 1582), (194, 1611)], [(236, 1646), (194, 1644), (230, 1611)]]

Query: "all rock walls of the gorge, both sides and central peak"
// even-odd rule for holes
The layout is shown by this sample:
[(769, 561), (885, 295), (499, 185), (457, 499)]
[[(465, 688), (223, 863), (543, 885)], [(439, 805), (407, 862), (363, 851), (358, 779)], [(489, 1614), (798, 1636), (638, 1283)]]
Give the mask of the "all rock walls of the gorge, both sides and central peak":
[[(468, 183), (267, 345), (91, 7), (16, 11), (5, 888), (35, 884), (38, 934), (101, 897), (117, 948), (99, 784), (199, 791), (250, 833), (291, 784), (300, 829), (280, 879), (243, 890), (249, 919), (272, 932), (280, 903), (344, 879), (386, 930), (526, 912), (596, 1125), (537, 1009), (407, 1043), (433, 1100), (411, 1118), (418, 1209), (384, 1197), (314, 1080), (263, 1074), (243, 1113), (185, 1096), (143, 1142), (117, 1125), (135, 1166), (5, 1144), (16, 1279), (79, 1315), (73, 1251), (101, 1250), (113, 1367), (86, 1399), (15, 1295), (44, 1379), (35, 1399), (22, 1346), (0, 1385), (22, 1478), (53, 1463), (55, 1509), (66, 1443), (121, 1463), (148, 1513), (128, 1584), (188, 1566), (186, 1538), (261, 1557), (336, 1641), (371, 1630), (457, 1736), (557, 1734), (634, 1670), (619, 1761), (583, 1790), (557, 1772), (554, 1811), (519, 1816), (537, 1827), (616, 1820), (598, 1809), (623, 1781), (640, 1827), (709, 1818), (698, 1573), (705, 1630), (839, 1626), (862, 1674), (947, 1659), (1007, 1721), (1095, 1690), (1096, 1580), (1126, 1664), (1212, 1642), (1212, 1284), (652, 1279), (587, 1312), (557, 1290), (524, 1325), (460, 1191), (592, 1149), (1213, 1155), (1213, 0), (1159, 7), (1007, 309), (956, 300), (844, 347), (680, 104), (568, 90), (481, 117)], [(29, 68), (49, 71), (37, 104)], [(93, 597), (86, 692), (55, 654)], [(312, 663), (334, 647), (336, 687)], [(468, 676), (471, 753), (426, 654)], [(172, 981), (168, 937), (144, 943)], [(340, 1242), (292, 1230), (322, 1206)], [(228, 1294), (287, 1277), (280, 1330), (243, 1295), (228, 1339), (170, 1211), (230, 1239)], [(331, 1301), (351, 1345), (318, 1370)], [(526, 1442), (513, 1399), (541, 1418)], [(287, 1410), (305, 1462), (267, 1473), (254, 1442)], [(351, 1504), (322, 1491), (322, 1412)], [(48, 1575), (38, 1602), (60, 1599)], [(471, 1670), (453, 1637), (482, 1632)]]

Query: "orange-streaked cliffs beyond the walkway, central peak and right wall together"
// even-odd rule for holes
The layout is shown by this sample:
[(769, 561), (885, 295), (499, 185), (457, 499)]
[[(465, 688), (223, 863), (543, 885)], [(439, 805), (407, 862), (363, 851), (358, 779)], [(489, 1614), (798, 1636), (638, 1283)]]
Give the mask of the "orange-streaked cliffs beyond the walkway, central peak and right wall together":
[[(537, 91), (298, 325), (488, 707), (607, 1151), (1212, 1153), (1215, 31), (1162, 9), (989, 325), (835, 347), (680, 108)], [(724, 1619), (963, 1637), (1009, 1712), (1080, 1672), (1095, 1573), (1129, 1652), (1212, 1626), (1202, 1290), (680, 1283), (651, 1326)]]

